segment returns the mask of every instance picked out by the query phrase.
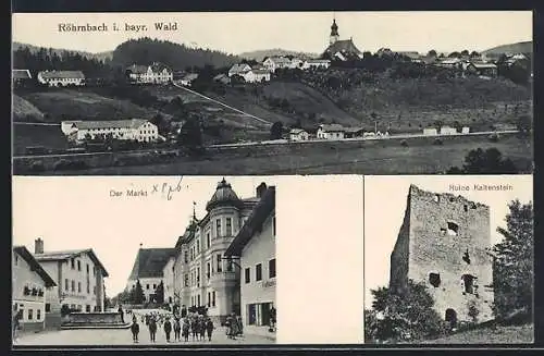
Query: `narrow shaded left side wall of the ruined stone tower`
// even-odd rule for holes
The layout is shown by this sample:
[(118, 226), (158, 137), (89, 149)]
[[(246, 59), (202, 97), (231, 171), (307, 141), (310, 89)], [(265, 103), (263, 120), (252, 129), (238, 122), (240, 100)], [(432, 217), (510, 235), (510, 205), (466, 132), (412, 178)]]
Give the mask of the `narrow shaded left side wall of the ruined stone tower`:
[(397, 242), (391, 254), (390, 289), (403, 293), (408, 284), (408, 256), (410, 242), (410, 197), (406, 204), (405, 218), (398, 232)]

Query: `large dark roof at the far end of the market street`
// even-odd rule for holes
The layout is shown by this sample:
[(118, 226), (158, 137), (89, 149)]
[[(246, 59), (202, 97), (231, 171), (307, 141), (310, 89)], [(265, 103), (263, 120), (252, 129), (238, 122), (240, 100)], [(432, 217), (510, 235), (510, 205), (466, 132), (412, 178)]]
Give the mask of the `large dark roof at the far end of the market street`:
[(174, 254), (175, 248), (140, 248), (128, 279), (163, 277), (162, 269)]

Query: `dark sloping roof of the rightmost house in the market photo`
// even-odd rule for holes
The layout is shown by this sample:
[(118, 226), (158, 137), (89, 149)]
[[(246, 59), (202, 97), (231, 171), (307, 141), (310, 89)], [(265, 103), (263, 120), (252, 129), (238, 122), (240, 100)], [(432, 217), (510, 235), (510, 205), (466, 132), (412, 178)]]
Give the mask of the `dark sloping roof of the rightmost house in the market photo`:
[(256, 232), (261, 230), (262, 224), (274, 209), (275, 186), (269, 186), (242, 230), (226, 249), (225, 256), (240, 256), (244, 246), (247, 245)]

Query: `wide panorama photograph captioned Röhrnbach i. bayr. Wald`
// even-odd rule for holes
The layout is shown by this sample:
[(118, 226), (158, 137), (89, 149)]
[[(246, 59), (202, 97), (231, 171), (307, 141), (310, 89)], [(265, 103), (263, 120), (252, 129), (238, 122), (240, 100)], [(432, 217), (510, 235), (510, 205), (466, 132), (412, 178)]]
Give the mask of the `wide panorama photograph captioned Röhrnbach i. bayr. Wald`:
[(532, 12), (15, 13), (13, 173), (527, 174)]

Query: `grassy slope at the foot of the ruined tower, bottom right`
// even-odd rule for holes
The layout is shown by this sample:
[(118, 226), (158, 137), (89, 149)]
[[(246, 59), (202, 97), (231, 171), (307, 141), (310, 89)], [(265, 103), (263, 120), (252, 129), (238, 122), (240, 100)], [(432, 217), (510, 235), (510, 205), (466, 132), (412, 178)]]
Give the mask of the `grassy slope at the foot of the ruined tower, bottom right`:
[(534, 342), (533, 324), (479, 328), (445, 337), (422, 341), (423, 344), (530, 344)]

